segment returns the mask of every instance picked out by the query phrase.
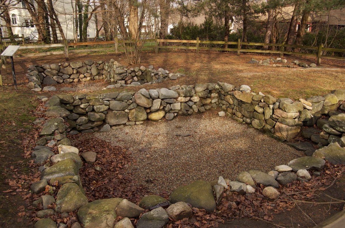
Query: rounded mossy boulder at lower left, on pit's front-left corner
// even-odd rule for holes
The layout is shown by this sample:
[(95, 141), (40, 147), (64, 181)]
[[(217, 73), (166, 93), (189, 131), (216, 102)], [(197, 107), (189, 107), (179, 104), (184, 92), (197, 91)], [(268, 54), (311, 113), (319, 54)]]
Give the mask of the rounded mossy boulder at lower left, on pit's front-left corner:
[(88, 200), (80, 187), (75, 183), (67, 183), (61, 186), (56, 196), (56, 208), (58, 213), (71, 212), (86, 205)]

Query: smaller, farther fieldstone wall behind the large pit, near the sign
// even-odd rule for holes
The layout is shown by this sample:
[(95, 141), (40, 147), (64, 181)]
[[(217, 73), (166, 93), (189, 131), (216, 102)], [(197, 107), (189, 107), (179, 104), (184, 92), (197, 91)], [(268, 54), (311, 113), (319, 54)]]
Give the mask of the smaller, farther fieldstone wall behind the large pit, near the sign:
[(51, 88), (51, 85), (103, 79), (111, 83), (107, 88), (118, 88), (159, 83), (166, 79), (175, 80), (184, 74), (169, 73), (162, 68), (155, 70), (152, 65), (148, 68), (144, 66), (127, 68), (114, 59), (110, 59), (97, 62), (85, 60), (51, 65), (30, 65), (26, 76), (30, 81), (27, 85), (29, 89), (40, 91), (43, 84), (47, 86), (43, 90), (56, 91)]

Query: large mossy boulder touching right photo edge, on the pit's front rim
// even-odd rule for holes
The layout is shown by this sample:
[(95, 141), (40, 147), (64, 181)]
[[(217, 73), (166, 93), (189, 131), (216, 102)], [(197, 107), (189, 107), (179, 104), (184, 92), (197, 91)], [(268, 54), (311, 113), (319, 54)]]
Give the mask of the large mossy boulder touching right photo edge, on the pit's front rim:
[(316, 150), (313, 157), (322, 158), (332, 164), (345, 164), (345, 148), (339, 146), (337, 142)]

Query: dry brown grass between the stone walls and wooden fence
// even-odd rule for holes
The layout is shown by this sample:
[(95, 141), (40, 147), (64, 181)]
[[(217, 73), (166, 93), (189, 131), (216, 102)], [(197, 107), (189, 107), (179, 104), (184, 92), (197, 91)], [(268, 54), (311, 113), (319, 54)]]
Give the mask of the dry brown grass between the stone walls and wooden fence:
[[(115, 59), (126, 64), (124, 56), (94, 55), (83, 56), (73, 55), (72, 60), (109, 60)], [(249, 85), (254, 92), (263, 92), (275, 97), (290, 97), (293, 99), (307, 98), (314, 95), (324, 95), (334, 89), (345, 88), (344, 62), (323, 60), (321, 68), (282, 68), (259, 66), (247, 63), (251, 58), (265, 59), (268, 56), (255, 54), (241, 54), (222, 52), (200, 52), (198, 55), (191, 51), (166, 51), (155, 54), (145, 52), (141, 57), (141, 65), (154, 65), (155, 69), (164, 68), (170, 72), (185, 73), (186, 77), (178, 80), (167, 80), (158, 85), (145, 86), (145, 88), (168, 87), (172, 85), (191, 85), (197, 82), (227, 82), (235, 86), (242, 84)], [(310, 64), (315, 59), (300, 59), (295, 56), (285, 57), (288, 63), (298, 59)], [(26, 67), (30, 64), (64, 62), (63, 56), (20, 58), (16, 59), (17, 75), (19, 83), (25, 85), (27, 79), (24, 76)], [(5, 83), (12, 83), (11, 77), (6, 77)], [(92, 85), (91, 85), (92, 84)], [(78, 87), (99, 92), (107, 84), (101, 81), (85, 83)], [(59, 87), (66, 85), (59, 85)], [(75, 85), (68, 85), (74, 87)], [(136, 91), (141, 87), (121, 88), (118, 90)], [(88, 90), (89, 90), (88, 89)], [(114, 90), (112, 90), (114, 91)]]

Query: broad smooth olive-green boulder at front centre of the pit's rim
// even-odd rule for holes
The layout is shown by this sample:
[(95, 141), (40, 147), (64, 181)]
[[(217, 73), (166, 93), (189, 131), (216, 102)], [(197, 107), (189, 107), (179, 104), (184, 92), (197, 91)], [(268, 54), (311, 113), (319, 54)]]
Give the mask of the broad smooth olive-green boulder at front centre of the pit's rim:
[(187, 202), (193, 207), (212, 212), (216, 209), (216, 201), (210, 182), (196, 180), (193, 183), (178, 187), (170, 195), (170, 202)]

